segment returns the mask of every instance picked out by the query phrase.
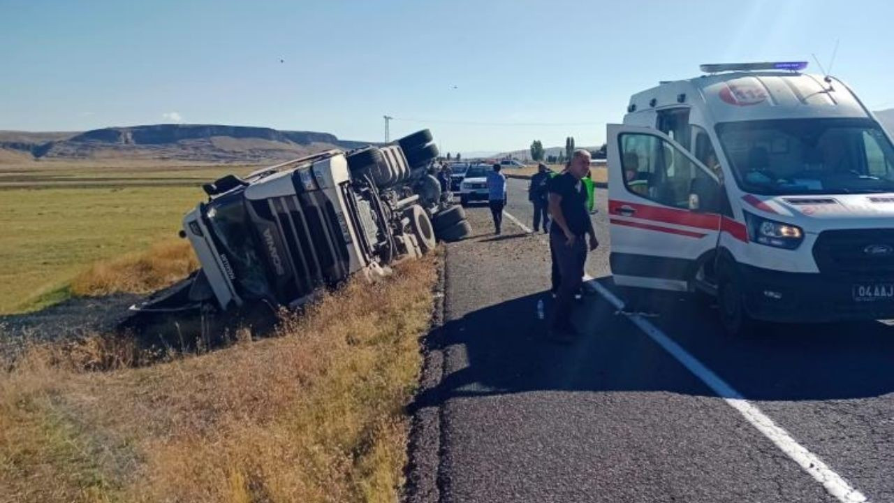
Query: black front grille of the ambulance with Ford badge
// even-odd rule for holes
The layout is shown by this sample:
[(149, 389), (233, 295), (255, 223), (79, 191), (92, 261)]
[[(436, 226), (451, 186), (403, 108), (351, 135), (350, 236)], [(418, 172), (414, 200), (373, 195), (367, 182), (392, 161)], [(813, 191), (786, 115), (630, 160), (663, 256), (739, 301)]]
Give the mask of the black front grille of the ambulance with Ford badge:
[(822, 273), (894, 275), (894, 229), (823, 231), (814, 244), (814, 260)]

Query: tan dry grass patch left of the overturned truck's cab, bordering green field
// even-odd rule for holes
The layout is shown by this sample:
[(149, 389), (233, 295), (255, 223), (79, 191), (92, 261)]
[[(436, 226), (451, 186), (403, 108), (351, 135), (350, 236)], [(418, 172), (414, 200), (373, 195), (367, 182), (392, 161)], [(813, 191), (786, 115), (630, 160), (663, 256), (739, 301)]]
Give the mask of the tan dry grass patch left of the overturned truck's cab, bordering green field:
[(164, 241), (146, 252), (95, 263), (72, 280), (72, 294), (148, 294), (173, 285), (198, 269), (198, 265), (190, 242)]

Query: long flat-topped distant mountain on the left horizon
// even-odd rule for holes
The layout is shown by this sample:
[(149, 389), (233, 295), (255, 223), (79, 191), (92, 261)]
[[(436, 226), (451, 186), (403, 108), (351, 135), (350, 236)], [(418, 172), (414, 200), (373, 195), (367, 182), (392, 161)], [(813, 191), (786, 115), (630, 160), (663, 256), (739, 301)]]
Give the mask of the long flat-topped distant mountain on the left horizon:
[(355, 149), (365, 141), (328, 132), (279, 131), (217, 124), (152, 124), (88, 132), (0, 132), (4, 158), (131, 158), (255, 162), (295, 158), (324, 149)]

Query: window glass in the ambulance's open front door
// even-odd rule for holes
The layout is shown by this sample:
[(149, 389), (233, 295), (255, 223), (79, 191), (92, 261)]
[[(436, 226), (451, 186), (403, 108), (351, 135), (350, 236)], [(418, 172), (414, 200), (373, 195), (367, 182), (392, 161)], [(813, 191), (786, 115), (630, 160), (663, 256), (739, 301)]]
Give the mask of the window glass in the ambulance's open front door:
[(666, 206), (689, 209), (694, 186), (716, 184), (681, 150), (651, 134), (621, 134), (620, 154), (627, 190)]

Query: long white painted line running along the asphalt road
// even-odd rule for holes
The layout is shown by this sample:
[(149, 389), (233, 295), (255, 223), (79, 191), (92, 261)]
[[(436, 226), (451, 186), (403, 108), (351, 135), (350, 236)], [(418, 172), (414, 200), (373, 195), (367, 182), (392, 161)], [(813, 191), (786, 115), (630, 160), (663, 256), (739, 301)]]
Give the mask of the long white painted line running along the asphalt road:
[[(526, 232), (531, 232), (527, 226), (519, 222), (519, 219), (511, 216), (507, 212), (503, 212), (517, 226)], [(584, 276), (586, 286), (595, 289), (601, 294), (606, 301), (611, 303), (617, 310), (624, 307), (624, 302), (617, 295), (600, 285), (593, 277)], [(807, 448), (797, 443), (795, 439), (789, 435), (788, 431), (783, 430), (779, 425), (770, 419), (766, 414), (761, 412), (756, 405), (748, 402), (745, 396), (742, 396), (735, 388), (732, 388), (726, 381), (715, 374), (711, 369), (699, 362), (695, 356), (689, 354), (683, 347), (674, 342), (671, 337), (665, 335), (661, 329), (655, 327), (652, 323), (637, 314), (625, 314), (628, 319), (633, 322), (646, 336), (651, 338), (655, 344), (662, 346), (662, 349), (671, 354), (678, 362), (680, 362), (688, 371), (692, 372), (698, 379), (711, 388), (714, 393), (720, 396), (730, 407), (736, 409), (738, 413), (751, 423), (757, 431), (760, 431), (764, 437), (770, 439), (782, 452), (789, 456), (797, 465), (799, 465), (806, 473), (814, 477), (816, 482), (820, 482), (829, 494), (834, 496), (842, 503), (860, 503), (868, 501), (862, 492), (851, 487), (848, 481), (844, 480), (838, 473), (835, 473), (828, 465), (822, 462), (819, 456), (807, 450)]]

